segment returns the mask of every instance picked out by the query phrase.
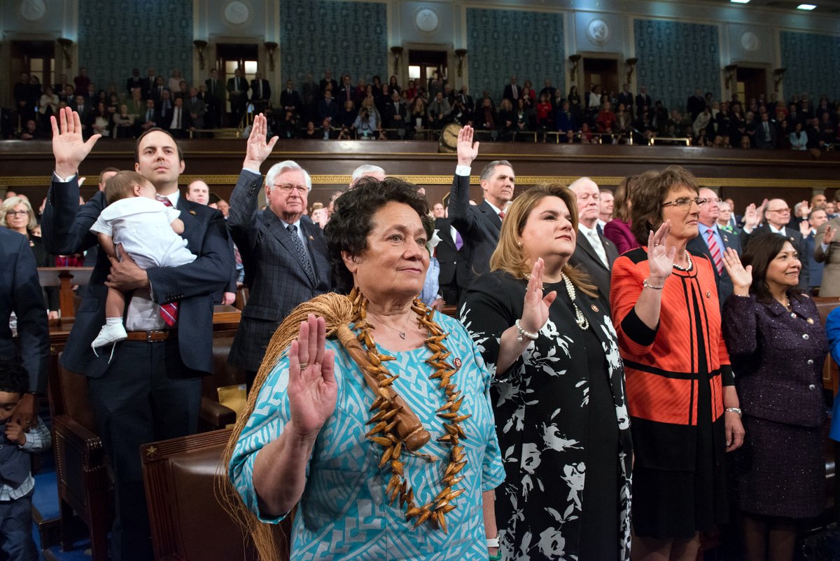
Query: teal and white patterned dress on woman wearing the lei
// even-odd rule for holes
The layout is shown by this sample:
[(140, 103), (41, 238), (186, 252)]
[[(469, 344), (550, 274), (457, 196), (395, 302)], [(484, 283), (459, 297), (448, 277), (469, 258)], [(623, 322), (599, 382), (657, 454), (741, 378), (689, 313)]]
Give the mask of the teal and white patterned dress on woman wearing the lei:
[[(406, 522), (405, 509), (398, 502), (393, 506), (386, 504), (391, 469), (378, 467), (382, 448), (365, 439), (370, 429), (365, 423), (371, 416), (373, 392), (347, 352), (328, 339), (328, 348), (335, 350), (338, 405), (318, 433), (307, 464), (307, 485), (291, 532), (293, 561), (444, 561), (487, 557), (481, 493), (495, 489), (505, 478), (490, 404), (490, 375), (464, 326), (438, 313), (435, 320), (449, 333), (449, 364), (457, 364), (456, 359), (461, 361), (459, 372), (452, 377), (465, 396), (459, 413), (472, 415), (461, 425), (467, 434), (460, 441), (467, 464), (460, 472), (465, 479), (457, 488), (463, 485), (465, 492), (455, 499), (458, 508), (446, 517), (449, 533), (428, 524), (414, 528)], [(385, 349), (381, 352), (396, 356), (387, 363), (388, 370), (400, 375), (393, 387), (432, 434), (419, 452), (433, 454), (438, 460), (429, 463), (405, 450), (400, 456), (415, 501), (418, 506), (423, 505), (433, 501), (440, 491), (440, 479), (449, 460), (449, 447), (437, 442), (445, 433), (444, 420), (436, 414), (444, 405), (444, 394), (436, 380), (428, 379), (433, 370), (424, 362), (431, 354), (427, 348), (396, 354)], [(257, 514), (254, 459), (261, 448), (280, 436), (289, 420), (288, 364), (288, 357), (281, 358), (265, 380), (228, 466), (239, 495)], [(264, 522), (281, 519), (282, 516), (267, 518)]]

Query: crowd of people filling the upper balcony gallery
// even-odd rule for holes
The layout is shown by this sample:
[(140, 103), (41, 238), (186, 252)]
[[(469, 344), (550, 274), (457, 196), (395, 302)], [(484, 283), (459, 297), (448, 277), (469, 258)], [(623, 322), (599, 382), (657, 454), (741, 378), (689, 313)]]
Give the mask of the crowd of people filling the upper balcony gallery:
[[(729, 101), (697, 89), (682, 107), (665, 107), (647, 87), (638, 93), (624, 84), (621, 92), (602, 91), (593, 84), (586, 92), (571, 86), (560, 91), (549, 79), (537, 92), (531, 81), (518, 85), (512, 76), (494, 97), (485, 90), (472, 97), (466, 86), (455, 90), (435, 73), (426, 83), (396, 76), (353, 83), (349, 74), (333, 79), (325, 71), (317, 80), (308, 74), (302, 84), (286, 81), (272, 105), (270, 82), (257, 73), (246, 80), (241, 71), (223, 81), (218, 71), (189, 84), (181, 71), (168, 80), (154, 68), (140, 76), (134, 68), (124, 88), (97, 87), (81, 68), (68, 81), (41, 85), (22, 73), (13, 87), (13, 126), (5, 138), (48, 139), (49, 119), (60, 107), (81, 117), (86, 137), (134, 138), (152, 127), (187, 138), (224, 124), (247, 126), (244, 115), (265, 113), (269, 134), (281, 139), (428, 139), (428, 131), (448, 123), (470, 124), (499, 141), (542, 141), (578, 144), (692, 144), (717, 148), (832, 149), (840, 144), (840, 102), (822, 95), (815, 105), (807, 93), (790, 102), (777, 95)], [(225, 100), (230, 100), (230, 113)], [(181, 100), (181, 101), (178, 101)], [(197, 133), (201, 135), (201, 133)]]

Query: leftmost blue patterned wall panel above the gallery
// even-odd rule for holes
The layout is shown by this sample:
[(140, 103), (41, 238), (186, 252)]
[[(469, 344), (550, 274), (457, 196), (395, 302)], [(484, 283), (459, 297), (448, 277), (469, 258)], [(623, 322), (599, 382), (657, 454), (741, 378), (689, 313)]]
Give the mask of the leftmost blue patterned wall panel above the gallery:
[(79, 66), (98, 88), (125, 90), (131, 69), (153, 66), (192, 76), (192, 0), (85, 0), (79, 3)]

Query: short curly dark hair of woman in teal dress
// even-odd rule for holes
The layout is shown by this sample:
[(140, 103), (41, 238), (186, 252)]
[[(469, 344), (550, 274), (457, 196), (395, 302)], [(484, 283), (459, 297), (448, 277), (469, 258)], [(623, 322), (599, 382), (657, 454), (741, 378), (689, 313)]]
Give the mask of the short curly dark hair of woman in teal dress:
[(426, 197), (417, 193), (416, 185), (395, 177), (386, 177), (384, 181), (362, 177), (353, 189), (336, 200), (333, 216), (323, 229), (338, 291), (349, 292), (353, 288), (353, 275), (344, 266), (341, 252), (356, 256), (367, 249), (367, 237), (374, 227), (373, 216), (389, 202), (402, 202), (412, 207), (420, 217), (426, 235), (432, 238), (434, 221), (429, 216)]

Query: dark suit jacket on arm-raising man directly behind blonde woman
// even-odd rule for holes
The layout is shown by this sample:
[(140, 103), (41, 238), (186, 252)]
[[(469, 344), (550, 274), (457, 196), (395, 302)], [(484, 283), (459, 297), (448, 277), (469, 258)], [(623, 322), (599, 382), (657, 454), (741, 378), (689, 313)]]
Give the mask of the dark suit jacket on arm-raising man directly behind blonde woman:
[(490, 270), (490, 256), (496, 250), (501, 232), (501, 218), (486, 201), (470, 205), (470, 178), (454, 176), (449, 190), (449, 220), (461, 233), (467, 249), (470, 281)]

